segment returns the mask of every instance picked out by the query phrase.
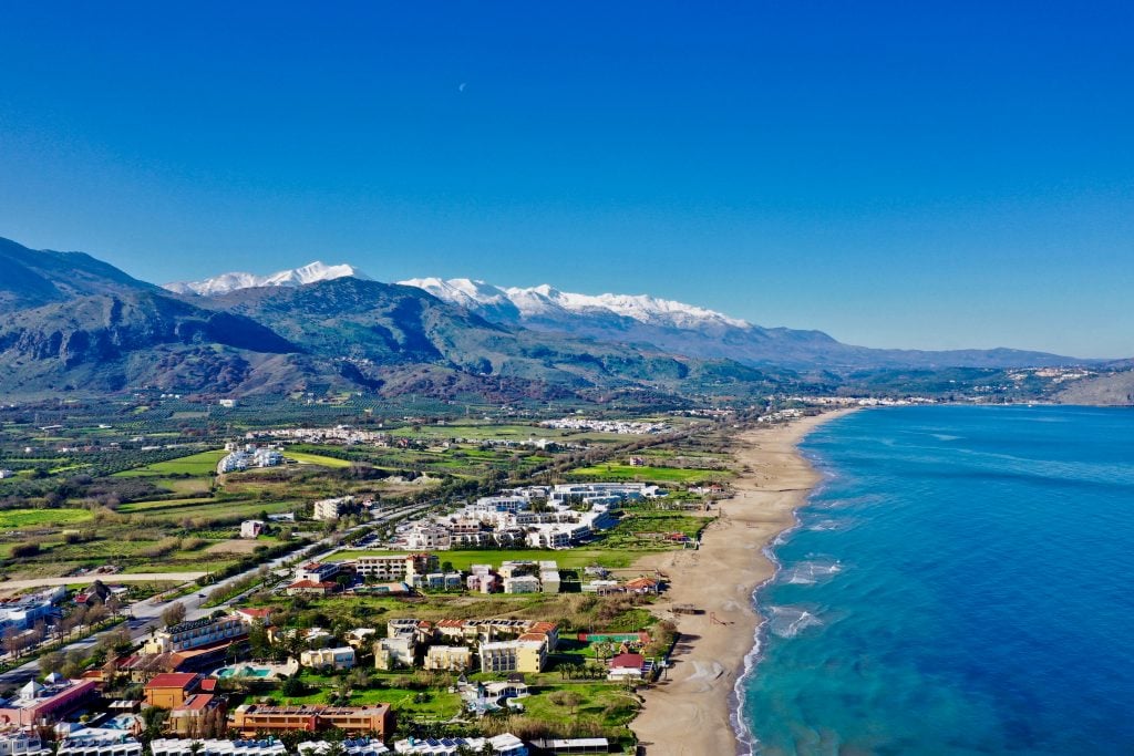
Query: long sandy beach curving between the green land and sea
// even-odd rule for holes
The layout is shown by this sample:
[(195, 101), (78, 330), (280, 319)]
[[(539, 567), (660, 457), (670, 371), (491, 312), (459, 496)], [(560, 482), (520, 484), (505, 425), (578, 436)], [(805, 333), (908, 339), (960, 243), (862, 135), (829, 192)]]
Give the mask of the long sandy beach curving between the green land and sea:
[[(720, 502), (701, 547), (652, 554), (635, 564), (669, 576), (665, 601), (654, 609), (680, 632), (674, 665), (645, 691), (645, 705), (631, 724), (649, 756), (750, 753), (738, 738), (743, 723), (736, 721), (735, 696), (762, 621), (752, 594), (776, 575), (768, 546), (796, 524), (795, 510), (820, 481), (798, 443), (852, 411), (744, 431), (736, 451), (744, 472), (734, 482), (733, 498)], [(676, 604), (692, 604), (699, 612), (674, 614)]]

